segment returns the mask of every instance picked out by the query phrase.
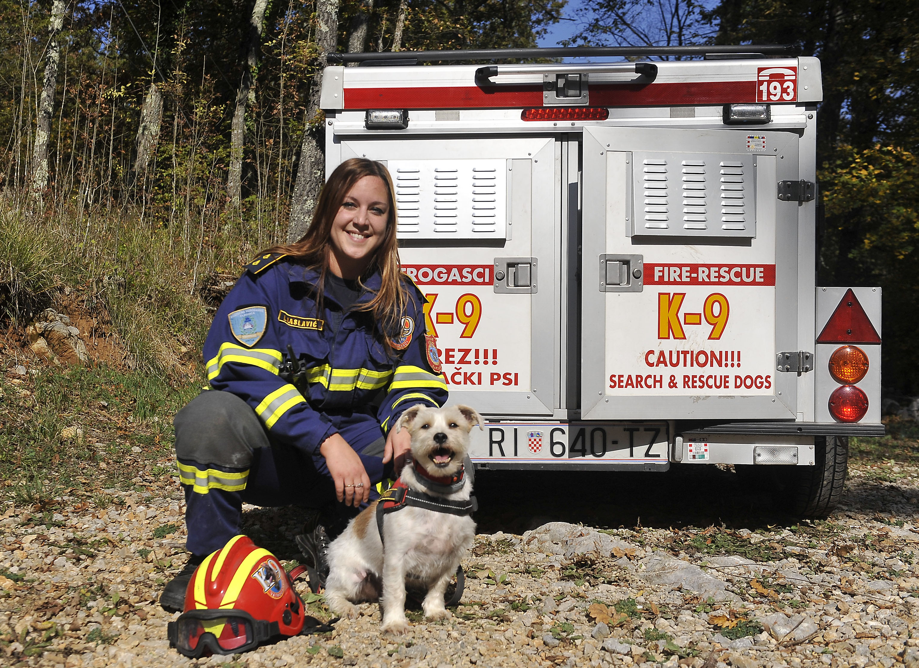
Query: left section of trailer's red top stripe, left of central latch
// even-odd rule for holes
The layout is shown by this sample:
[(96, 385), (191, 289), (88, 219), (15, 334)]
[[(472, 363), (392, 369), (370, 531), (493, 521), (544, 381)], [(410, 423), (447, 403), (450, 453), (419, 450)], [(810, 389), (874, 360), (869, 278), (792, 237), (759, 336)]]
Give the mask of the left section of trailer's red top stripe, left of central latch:
[(346, 88), (346, 109), (455, 109), (542, 106), (542, 86)]

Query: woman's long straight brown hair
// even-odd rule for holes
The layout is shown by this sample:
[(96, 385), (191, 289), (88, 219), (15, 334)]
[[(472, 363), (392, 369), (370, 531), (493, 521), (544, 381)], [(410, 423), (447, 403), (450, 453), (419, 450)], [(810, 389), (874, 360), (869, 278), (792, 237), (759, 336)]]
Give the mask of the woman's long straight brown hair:
[(325, 277), (329, 271), (329, 254), (331, 252), (332, 222), (338, 209), (345, 201), (351, 188), (365, 176), (377, 176), (386, 184), (390, 200), (390, 215), (386, 221), (386, 236), (370, 260), (370, 264), (358, 284), (363, 285), (365, 278), (380, 271), (380, 289), (372, 300), (359, 307), (360, 311), (370, 311), (373, 319), (379, 324), (380, 331), (387, 347), (389, 339), (398, 334), (405, 304), (409, 300), (408, 291), (400, 277), (399, 244), (396, 241), (396, 198), (392, 187), (389, 170), (367, 158), (351, 158), (335, 167), (329, 180), (319, 193), (319, 201), (312, 212), (312, 222), (306, 233), (295, 243), (272, 246), (263, 253), (284, 253), (291, 259), (319, 270), (319, 281), (316, 285), (317, 306), (321, 310), (325, 289)]

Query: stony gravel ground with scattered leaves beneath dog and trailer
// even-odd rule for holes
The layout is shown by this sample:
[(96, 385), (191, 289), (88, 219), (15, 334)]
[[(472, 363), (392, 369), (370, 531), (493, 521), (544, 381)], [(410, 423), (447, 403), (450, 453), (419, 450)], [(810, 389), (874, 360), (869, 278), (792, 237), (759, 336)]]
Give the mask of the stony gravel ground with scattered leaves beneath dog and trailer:
[[(53, 513), (7, 503), (0, 664), (919, 668), (919, 468), (854, 463), (839, 511), (797, 524), (725, 467), (476, 482), (482, 533), (452, 618), (425, 623), (415, 606), (411, 631), (392, 637), (368, 605), (334, 633), (197, 662), (169, 649), (176, 615), (156, 605), (186, 559), (175, 483), (64, 497)], [(282, 560), (296, 559), (300, 522), (244, 513)]]

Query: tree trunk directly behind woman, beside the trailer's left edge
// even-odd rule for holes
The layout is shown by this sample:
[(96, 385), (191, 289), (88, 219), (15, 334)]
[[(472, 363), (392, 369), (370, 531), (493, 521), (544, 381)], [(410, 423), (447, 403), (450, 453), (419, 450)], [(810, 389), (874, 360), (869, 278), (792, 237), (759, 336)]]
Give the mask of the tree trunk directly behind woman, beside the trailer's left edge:
[(338, 43), (338, 0), (316, 0), (316, 45), (319, 48), (319, 62), (312, 77), (310, 98), (306, 108), (306, 128), (300, 147), (300, 164), (297, 166), (297, 181), (290, 198), (290, 223), (288, 241), (300, 239), (310, 226), (312, 209), (316, 206), (319, 189), (323, 186), (325, 168), (325, 145), (323, 138), (323, 113), (319, 98), (323, 90), (323, 68), (325, 54), (335, 51)]

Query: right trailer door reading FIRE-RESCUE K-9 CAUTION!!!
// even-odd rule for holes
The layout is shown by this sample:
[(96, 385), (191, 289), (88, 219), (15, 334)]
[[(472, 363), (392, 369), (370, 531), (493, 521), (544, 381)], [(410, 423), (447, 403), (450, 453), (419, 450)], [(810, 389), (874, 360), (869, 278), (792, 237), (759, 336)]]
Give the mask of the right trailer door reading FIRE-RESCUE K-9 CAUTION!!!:
[(797, 134), (584, 128), (583, 419), (794, 419)]

